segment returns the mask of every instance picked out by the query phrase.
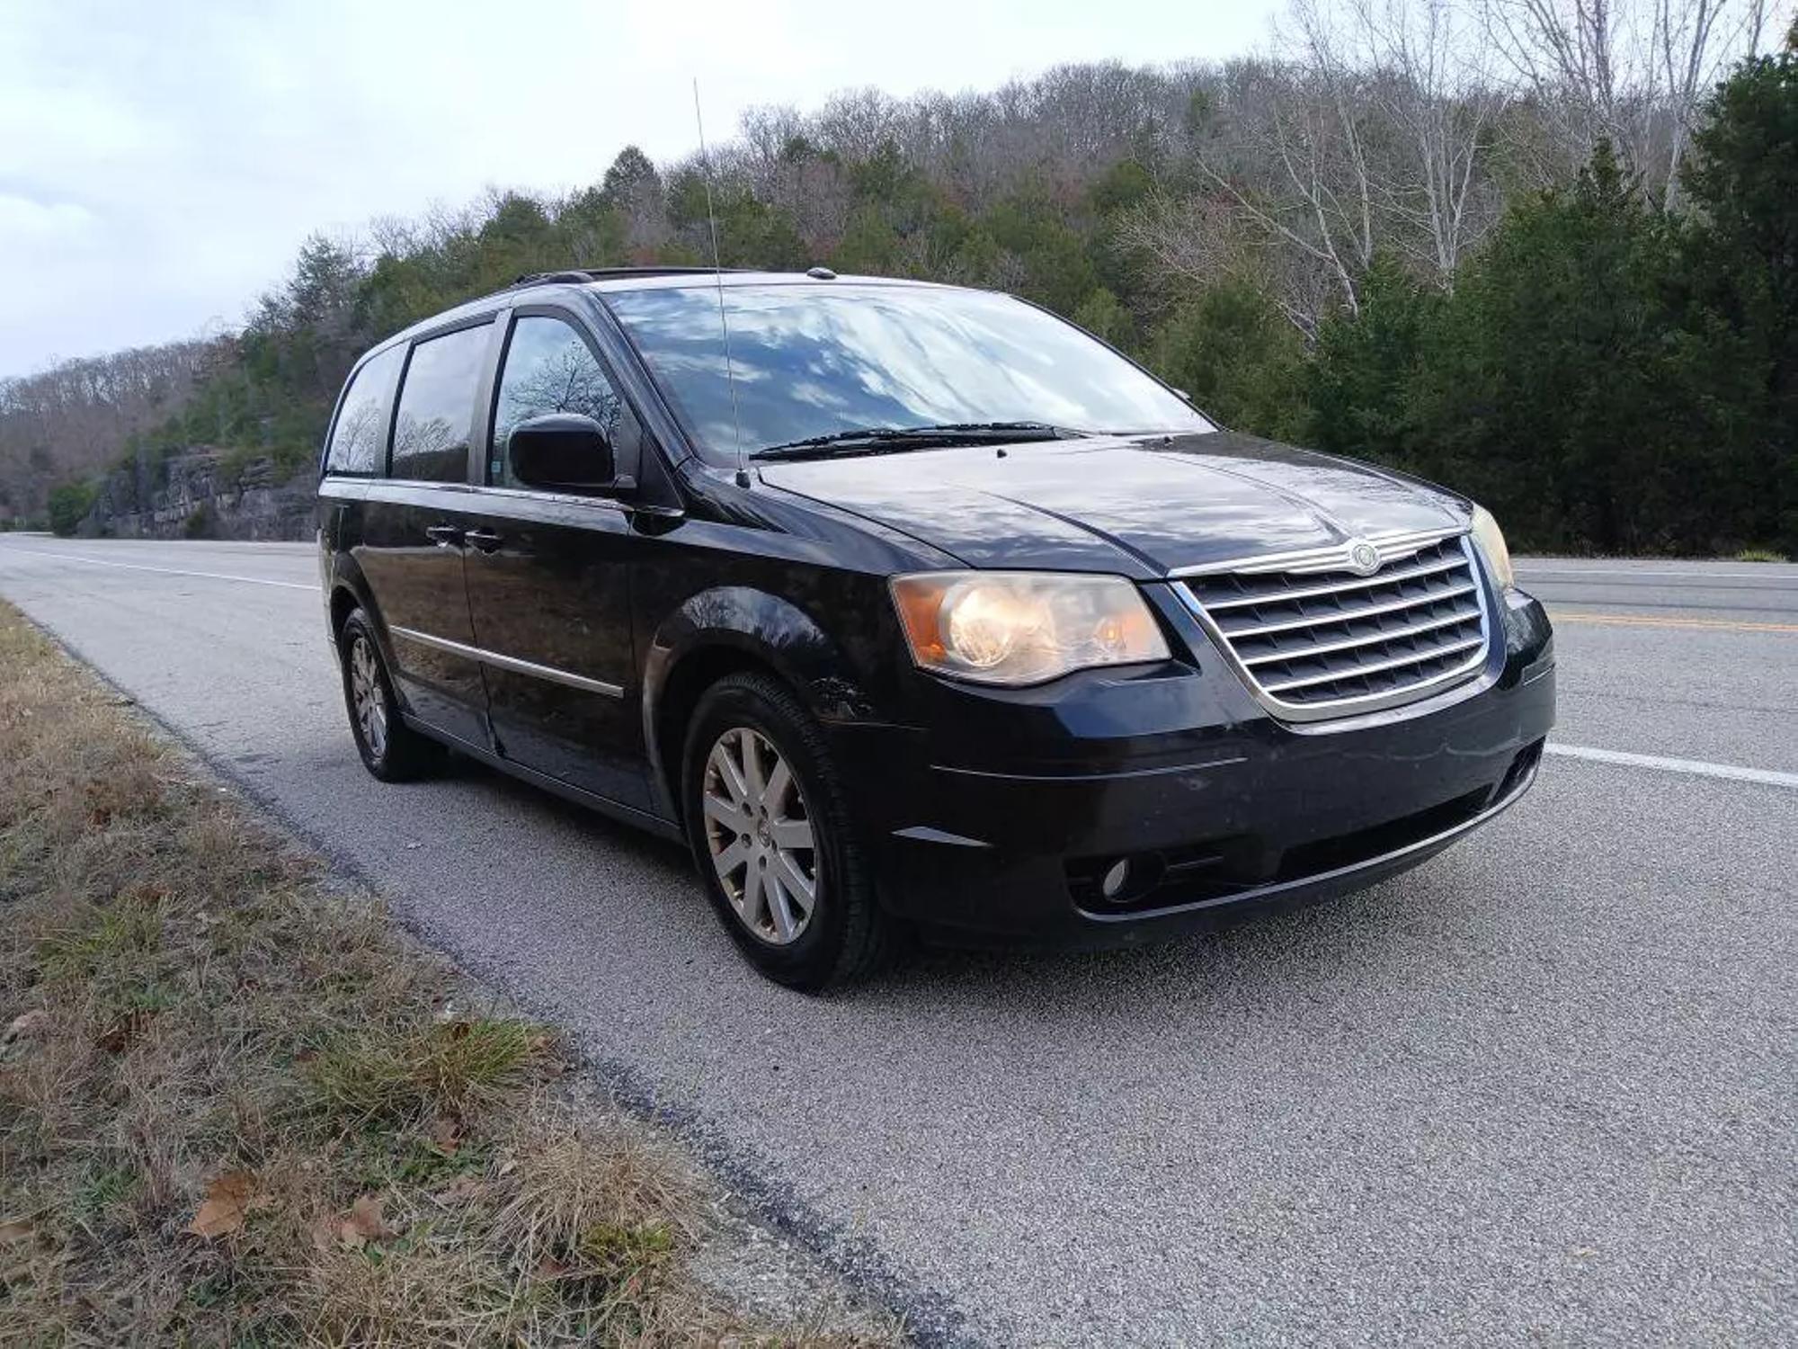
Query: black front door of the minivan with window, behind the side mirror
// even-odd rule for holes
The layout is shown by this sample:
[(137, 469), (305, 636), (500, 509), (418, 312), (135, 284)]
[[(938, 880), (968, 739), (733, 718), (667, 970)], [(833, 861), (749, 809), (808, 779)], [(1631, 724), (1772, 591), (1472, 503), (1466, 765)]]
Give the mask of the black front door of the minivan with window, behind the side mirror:
[(466, 534), (467, 606), (487, 662), (487, 707), (507, 759), (628, 806), (649, 806), (631, 649), (631, 513), (617, 500), (523, 487), (505, 437), (527, 417), (579, 412), (631, 475), (642, 432), (570, 315), (520, 311), (487, 444), (484, 514)]

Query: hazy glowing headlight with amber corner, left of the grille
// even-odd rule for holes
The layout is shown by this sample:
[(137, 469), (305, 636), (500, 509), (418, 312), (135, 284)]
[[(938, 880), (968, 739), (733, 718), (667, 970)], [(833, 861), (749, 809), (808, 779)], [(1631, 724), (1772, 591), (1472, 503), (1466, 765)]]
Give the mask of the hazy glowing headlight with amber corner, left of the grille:
[(931, 572), (892, 581), (912, 658), (980, 683), (1041, 683), (1088, 666), (1165, 660), (1167, 640), (1122, 576)]

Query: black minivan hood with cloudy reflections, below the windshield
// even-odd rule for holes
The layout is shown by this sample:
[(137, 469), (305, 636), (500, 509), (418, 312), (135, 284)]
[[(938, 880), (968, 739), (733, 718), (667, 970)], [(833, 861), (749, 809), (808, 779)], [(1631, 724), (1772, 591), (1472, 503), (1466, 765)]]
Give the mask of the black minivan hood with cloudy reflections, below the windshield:
[(1233, 432), (913, 450), (761, 473), (969, 567), (1144, 577), (1467, 523), (1446, 491)]

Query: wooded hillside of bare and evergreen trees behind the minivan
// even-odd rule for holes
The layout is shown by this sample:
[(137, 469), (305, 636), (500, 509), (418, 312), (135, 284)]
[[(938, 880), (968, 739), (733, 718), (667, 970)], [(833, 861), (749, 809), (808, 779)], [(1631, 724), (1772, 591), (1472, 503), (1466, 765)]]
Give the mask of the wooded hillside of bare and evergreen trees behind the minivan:
[[(721, 261), (1027, 295), (1523, 547), (1798, 552), (1798, 27), (1751, 56), (1766, 23), (1305, 0), (1268, 59), (762, 110), (714, 149)], [(712, 261), (701, 164), (636, 149), (570, 196), (316, 237), (236, 338), (0, 385), (0, 518), (61, 487), (70, 523), (120, 457), (300, 466), (381, 336), (520, 273), (676, 261)]]

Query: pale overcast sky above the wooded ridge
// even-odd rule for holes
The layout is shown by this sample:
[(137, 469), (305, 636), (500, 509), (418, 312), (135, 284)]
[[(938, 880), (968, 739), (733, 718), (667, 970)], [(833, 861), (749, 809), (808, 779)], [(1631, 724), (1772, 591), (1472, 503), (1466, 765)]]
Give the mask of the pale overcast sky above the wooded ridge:
[(1275, 0), (0, 0), (0, 376), (237, 326), (313, 230), (595, 182), (744, 108), (1233, 56)]

